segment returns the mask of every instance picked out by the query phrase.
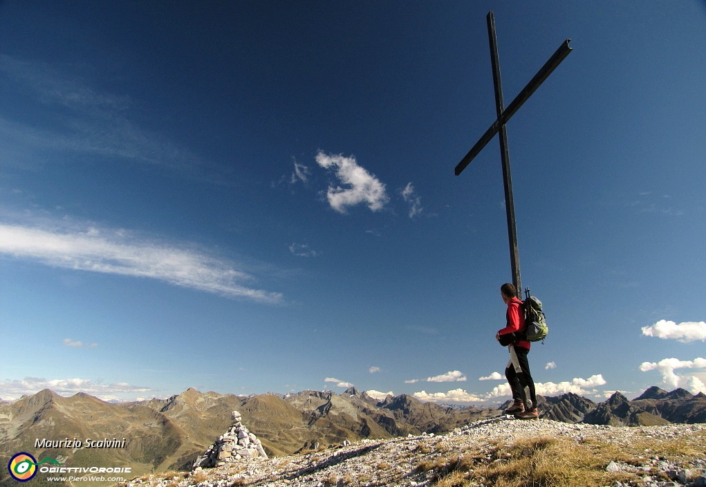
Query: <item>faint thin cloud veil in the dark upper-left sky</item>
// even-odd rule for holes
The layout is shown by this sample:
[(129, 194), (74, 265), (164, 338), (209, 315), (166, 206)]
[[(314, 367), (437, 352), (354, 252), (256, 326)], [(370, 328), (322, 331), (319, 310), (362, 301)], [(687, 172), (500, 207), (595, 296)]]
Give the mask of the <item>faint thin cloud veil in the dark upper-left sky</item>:
[(92, 87), (86, 81), (89, 76), (77, 70), (0, 54), (0, 73), (22, 85), (43, 113), (52, 114), (52, 124), (43, 128), (0, 117), (0, 136), (13, 156), (80, 152), (124, 157), (199, 178), (205, 170), (213, 171), (213, 164), (131, 119), (129, 97)]

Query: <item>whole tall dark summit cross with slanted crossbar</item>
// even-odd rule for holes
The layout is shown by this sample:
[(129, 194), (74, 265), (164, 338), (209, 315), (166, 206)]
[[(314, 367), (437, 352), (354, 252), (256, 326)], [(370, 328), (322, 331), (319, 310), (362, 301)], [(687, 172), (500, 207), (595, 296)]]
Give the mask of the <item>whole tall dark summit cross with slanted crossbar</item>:
[(525, 88), (522, 88), (520, 94), (515, 97), (515, 100), (505, 109), (503, 102), (503, 85), (500, 80), (500, 64), (498, 62), (498, 40), (495, 35), (495, 16), (493, 12), (489, 12), (486, 17), (488, 22), (488, 39), (490, 42), (491, 64), (493, 66), (493, 85), (495, 85), (495, 106), (498, 114), (498, 119), (493, 122), (490, 128), (483, 134), (469, 150), (466, 157), (456, 166), (456, 176), (461, 174), (463, 169), (478, 155), (478, 153), (490, 142), (491, 138), (496, 133), (500, 133), (500, 155), (503, 162), (503, 181), (505, 183), (505, 211), (508, 215), (508, 237), (510, 239), (510, 265), (513, 272), (513, 284), (517, 289), (517, 296), (521, 296), (522, 282), (520, 282), (520, 256), (517, 252), (517, 229), (515, 229), (515, 203), (513, 202), (513, 181), (510, 178), (510, 152), (508, 152), (508, 134), (505, 131), (505, 124), (510, 120), (510, 117), (517, 112), (517, 109), (522, 107), (522, 104), (534, 93), (534, 90), (539, 88), (539, 85), (544, 83), (546, 78), (552, 71), (563, 61), (571, 52), (569, 47), (570, 39), (565, 40), (561, 46), (552, 54), (549, 61), (546, 61), (544, 66), (537, 71), (534, 78), (527, 83)]

